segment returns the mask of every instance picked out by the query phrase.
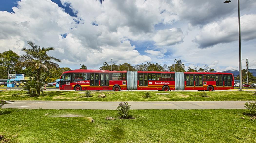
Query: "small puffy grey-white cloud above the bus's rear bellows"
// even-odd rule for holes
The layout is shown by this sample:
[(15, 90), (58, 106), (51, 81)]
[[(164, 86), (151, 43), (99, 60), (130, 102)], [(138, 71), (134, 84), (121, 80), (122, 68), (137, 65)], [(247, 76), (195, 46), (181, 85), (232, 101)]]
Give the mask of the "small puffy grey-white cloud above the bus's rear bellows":
[(180, 42), (183, 42), (183, 39), (184, 35), (181, 28), (159, 30), (153, 37), (156, 45), (159, 46), (170, 46), (174, 44), (179, 44)]

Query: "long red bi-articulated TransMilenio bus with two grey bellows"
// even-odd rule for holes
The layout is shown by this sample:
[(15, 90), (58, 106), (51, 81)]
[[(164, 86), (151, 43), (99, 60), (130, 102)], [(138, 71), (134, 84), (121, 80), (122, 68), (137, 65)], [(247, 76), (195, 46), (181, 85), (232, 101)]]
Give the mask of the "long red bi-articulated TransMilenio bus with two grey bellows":
[(231, 73), (130, 72), (75, 69), (60, 77), (60, 90), (229, 90)]

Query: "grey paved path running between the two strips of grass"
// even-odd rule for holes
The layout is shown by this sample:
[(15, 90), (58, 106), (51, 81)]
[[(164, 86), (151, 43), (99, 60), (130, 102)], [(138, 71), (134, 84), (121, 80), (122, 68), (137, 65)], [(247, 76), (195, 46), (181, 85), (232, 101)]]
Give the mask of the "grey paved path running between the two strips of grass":
[[(246, 101), (129, 102), (131, 109), (244, 109)], [(30, 109), (116, 109), (120, 102), (8, 101), (3, 108)]]

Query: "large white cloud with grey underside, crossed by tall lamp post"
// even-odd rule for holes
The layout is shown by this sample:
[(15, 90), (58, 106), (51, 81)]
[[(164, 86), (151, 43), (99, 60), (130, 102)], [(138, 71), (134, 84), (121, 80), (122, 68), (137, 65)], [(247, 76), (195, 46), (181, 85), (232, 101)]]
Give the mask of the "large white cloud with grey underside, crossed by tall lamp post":
[[(256, 38), (256, 15), (243, 15), (241, 17), (241, 39), (251, 40)], [(219, 22), (205, 25), (193, 42), (199, 48), (207, 48), (220, 43), (238, 40), (238, 18), (226, 18)]]

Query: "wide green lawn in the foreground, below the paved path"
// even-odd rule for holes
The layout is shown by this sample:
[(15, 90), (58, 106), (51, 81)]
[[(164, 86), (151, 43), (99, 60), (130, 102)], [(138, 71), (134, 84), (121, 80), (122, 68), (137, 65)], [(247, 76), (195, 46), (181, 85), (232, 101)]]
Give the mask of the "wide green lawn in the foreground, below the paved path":
[[(244, 109), (115, 110), (4, 109), (0, 135), (10, 142), (255, 142), (256, 119)], [(48, 113), (48, 115), (46, 115)], [(54, 117), (74, 114), (92, 117)], [(116, 120), (105, 120), (111, 116)], [(244, 117), (244, 119), (240, 118)], [(1, 142), (1, 141), (0, 141)]]

